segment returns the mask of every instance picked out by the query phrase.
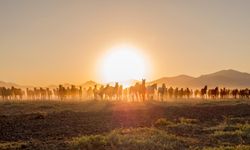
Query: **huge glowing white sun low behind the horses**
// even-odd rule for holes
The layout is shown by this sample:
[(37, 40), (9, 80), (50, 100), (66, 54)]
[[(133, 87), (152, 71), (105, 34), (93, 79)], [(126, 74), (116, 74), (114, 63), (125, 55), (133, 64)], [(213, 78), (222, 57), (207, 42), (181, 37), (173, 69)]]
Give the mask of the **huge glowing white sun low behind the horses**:
[(144, 78), (146, 61), (139, 49), (130, 45), (111, 48), (101, 62), (101, 74), (104, 82), (128, 82)]

